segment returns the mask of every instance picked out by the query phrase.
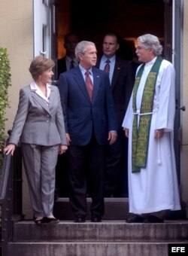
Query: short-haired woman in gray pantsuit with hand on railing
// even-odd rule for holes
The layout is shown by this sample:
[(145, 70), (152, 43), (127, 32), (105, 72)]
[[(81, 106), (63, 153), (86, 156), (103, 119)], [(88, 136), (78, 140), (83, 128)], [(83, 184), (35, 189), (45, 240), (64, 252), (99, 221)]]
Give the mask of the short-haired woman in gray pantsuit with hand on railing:
[(57, 156), (65, 153), (67, 142), (59, 90), (50, 85), (52, 59), (37, 56), (29, 72), (33, 81), (20, 90), (20, 100), (5, 154), (14, 154), (21, 142), (23, 163), (35, 223), (57, 223), (53, 216)]

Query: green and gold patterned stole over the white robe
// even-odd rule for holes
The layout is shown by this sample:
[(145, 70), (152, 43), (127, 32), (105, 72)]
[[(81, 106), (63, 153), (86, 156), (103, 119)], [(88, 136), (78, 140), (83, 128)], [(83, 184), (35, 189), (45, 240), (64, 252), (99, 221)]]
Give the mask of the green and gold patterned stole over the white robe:
[[(162, 57), (158, 56), (154, 62), (150, 73), (144, 86), (144, 93), (141, 99), (140, 121), (138, 126), (138, 114), (134, 114), (132, 124), (132, 172), (140, 172), (141, 168), (146, 168), (147, 164), (147, 150), (150, 139), (150, 123), (153, 111), (153, 97), (156, 87), (156, 78), (162, 62)], [(138, 92), (141, 75), (144, 72), (144, 65), (138, 70), (135, 78), (135, 85), (133, 90), (132, 108), (136, 113), (136, 95)]]

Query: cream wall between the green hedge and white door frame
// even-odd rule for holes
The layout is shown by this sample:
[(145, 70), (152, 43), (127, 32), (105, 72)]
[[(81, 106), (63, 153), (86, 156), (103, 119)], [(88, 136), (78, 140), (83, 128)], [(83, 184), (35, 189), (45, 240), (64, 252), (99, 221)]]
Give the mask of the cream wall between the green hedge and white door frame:
[(0, 47), (8, 49), (11, 60), (11, 108), (7, 111), (7, 128), (10, 129), (17, 110), (20, 87), (31, 79), (28, 68), (33, 56), (32, 0), (0, 0), (0, 6)]

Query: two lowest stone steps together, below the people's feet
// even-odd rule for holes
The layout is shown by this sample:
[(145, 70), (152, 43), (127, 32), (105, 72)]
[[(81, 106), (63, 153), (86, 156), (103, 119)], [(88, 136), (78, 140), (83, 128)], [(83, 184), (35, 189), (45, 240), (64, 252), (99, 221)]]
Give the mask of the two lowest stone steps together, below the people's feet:
[(36, 225), (14, 223), (10, 256), (168, 256), (169, 243), (188, 242), (188, 221), (127, 224), (125, 221)]

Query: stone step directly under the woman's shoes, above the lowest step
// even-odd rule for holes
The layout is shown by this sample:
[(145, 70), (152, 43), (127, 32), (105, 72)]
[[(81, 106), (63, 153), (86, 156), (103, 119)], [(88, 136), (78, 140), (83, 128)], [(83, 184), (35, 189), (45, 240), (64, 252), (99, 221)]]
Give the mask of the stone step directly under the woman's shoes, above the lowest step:
[(127, 224), (125, 221), (36, 225), (34, 221), (14, 224), (14, 242), (178, 242), (188, 240), (188, 221), (162, 224)]

